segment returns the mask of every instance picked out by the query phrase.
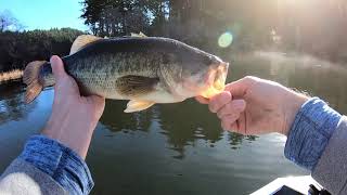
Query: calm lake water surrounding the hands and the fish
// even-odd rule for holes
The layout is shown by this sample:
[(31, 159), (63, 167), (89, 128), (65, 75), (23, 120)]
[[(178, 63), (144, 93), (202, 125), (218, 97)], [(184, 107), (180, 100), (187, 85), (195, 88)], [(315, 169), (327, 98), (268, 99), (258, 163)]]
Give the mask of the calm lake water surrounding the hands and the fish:
[[(228, 56), (229, 81), (246, 75), (279, 81), (326, 100), (347, 113), (347, 70), (305, 56), (257, 52)], [(39, 133), (53, 90), (31, 104), (18, 83), (0, 86), (0, 172)], [(126, 102), (106, 101), (87, 164), (92, 194), (248, 194), (278, 177), (308, 174), (283, 155), (285, 136), (223, 132), (217, 117), (194, 100), (125, 114)]]

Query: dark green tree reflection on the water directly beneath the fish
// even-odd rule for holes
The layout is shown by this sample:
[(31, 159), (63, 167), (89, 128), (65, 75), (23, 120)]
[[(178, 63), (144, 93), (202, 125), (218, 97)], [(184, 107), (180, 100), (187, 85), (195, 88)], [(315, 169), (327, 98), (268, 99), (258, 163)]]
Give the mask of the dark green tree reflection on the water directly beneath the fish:
[[(107, 101), (101, 122), (112, 132), (125, 133), (149, 132), (155, 122), (158, 132), (167, 138), (168, 147), (179, 154), (174, 156), (178, 159), (184, 158), (185, 147), (194, 146), (197, 140), (205, 140), (208, 146), (214, 147), (223, 136), (217, 117), (208, 112), (206, 105), (194, 100), (154, 105), (133, 114), (124, 113), (126, 101)], [(249, 136), (232, 133), (229, 139), (231, 145), (236, 146)]]

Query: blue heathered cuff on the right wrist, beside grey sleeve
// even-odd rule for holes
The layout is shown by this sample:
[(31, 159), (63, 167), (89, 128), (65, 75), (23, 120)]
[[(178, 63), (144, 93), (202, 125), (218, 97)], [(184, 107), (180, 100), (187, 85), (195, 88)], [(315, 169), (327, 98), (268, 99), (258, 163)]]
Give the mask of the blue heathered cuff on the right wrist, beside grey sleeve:
[(284, 155), (295, 164), (313, 170), (342, 115), (319, 98), (308, 100), (292, 125)]

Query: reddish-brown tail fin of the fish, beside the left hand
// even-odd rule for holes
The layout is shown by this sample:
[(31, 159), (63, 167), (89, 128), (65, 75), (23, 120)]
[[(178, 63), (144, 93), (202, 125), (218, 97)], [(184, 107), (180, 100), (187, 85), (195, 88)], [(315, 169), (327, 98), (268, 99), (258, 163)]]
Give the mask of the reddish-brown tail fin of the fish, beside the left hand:
[(28, 104), (33, 102), (42, 91), (43, 83), (39, 79), (40, 67), (46, 61), (30, 62), (24, 69), (23, 82), (27, 84), (25, 102)]

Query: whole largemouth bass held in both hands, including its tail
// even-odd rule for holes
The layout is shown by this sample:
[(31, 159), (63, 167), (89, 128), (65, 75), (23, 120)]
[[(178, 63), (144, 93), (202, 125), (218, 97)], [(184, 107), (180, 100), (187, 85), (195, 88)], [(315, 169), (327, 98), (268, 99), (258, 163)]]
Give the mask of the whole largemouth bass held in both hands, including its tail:
[[(178, 40), (142, 36), (104, 39), (82, 35), (62, 60), (82, 95), (130, 100), (126, 113), (155, 103), (210, 98), (223, 90), (229, 66), (218, 56)], [(55, 83), (50, 63), (29, 63), (23, 81), (27, 84), (26, 102), (30, 103), (43, 88)]]

